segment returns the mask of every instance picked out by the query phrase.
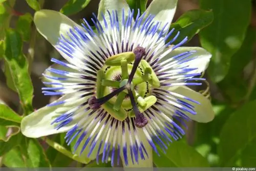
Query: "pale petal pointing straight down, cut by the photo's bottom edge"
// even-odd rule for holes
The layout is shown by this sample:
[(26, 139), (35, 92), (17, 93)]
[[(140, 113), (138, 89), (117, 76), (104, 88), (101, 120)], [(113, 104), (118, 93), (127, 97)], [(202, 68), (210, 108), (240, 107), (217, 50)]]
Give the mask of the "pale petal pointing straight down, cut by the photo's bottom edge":
[[(131, 153), (130, 150), (127, 150), (127, 160), (128, 160), (128, 165), (125, 165), (124, 162), (124, 157), (123, 154), (121, 154), (121, 159), (123, 162), (123, 167), (124, 170), (129, 170), (129, 167), (148, 167), (148, 168), (153, 168), (153, 149), (151, 145), (148, 143), (145, 134), (143, 133), (142, 129), (137, 129), (138, 132), (138, 137), (140, 141), (143, 143), (145, 150), (147, 152), (148, 158), (145, 155), (145, 160), (142, 160), (140, 157), (138, 157), (138, 164), (136, 162), (132, 161)], [(129, 141), (129, 132), (126, 132), (126, 139), (127, 139), (127, 146), (130, 146), (130, 141)], [(151, 171), (150, 169), (148, 171)]]

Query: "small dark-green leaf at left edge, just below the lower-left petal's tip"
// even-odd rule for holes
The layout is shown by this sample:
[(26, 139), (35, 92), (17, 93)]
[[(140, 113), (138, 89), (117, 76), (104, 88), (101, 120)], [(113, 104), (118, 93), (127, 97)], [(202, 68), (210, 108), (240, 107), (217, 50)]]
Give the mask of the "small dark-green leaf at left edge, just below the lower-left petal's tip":
[(0, 141), (0, 156), (8, 153), (13, 147), (19, 145), (22, 140), (23, 135), (18, 133), (17, 135), (12, 136), (7, 142)]

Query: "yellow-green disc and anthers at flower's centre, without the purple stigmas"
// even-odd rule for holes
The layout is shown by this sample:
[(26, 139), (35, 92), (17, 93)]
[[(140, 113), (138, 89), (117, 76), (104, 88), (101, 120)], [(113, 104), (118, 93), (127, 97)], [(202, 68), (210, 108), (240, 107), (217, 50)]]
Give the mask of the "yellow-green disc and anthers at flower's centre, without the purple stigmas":
[[(131, 63), (131, 61), (129, 61), (130, 63), (127, 63), (127, 60), (123, 56), (120, 60), (120, 66), (116, 66), (117, 62), (115, 57), (115, 65), (108, 65), (107, 62), (102, 70), (98, 72), (100, 75), (97, 77), (97, 98), (101, 98), (112, 93), (118, 89), (118, 84), (119, 87), (125, 85), (125, 81), (127, 81), (127, 78), (125, 77), (127, 77), (127, 73), (129, 77), (129, 74), (133, 68), (133, 63)], [(109, 63), (111, 62), (112, 61), (109, 61)], [(151, 67), (149, 67), (150, 65), (145, 60), (142, 60), (130, 85), (140, 112), (150, 108), (156, 102), (156, 97), (151, 95), (151, 89), (158, 87), (159, 80)], [(148, 72), (148, 70), (151, 71)], [(114, 118), (121, 121), (127, 116), (135, 116), (127, 90), (124, 90), (123, 92), (119, 93), (119, 95), (112, 97), (101, 107), (110, 113)]]

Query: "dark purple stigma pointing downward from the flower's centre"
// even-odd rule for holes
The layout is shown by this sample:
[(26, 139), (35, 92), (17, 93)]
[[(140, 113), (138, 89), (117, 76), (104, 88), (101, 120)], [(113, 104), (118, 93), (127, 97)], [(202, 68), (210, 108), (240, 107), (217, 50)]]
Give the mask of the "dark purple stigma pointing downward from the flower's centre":
[(130, 96), (130, 100), (133, 106), (133, 111), (135, 113), (135, 125), (139, 128), (144, 127), (148, 123), (148, 121), (146, 117), (142, 113), (140, 113), (131, 89), (128, 89), (128, 94)]

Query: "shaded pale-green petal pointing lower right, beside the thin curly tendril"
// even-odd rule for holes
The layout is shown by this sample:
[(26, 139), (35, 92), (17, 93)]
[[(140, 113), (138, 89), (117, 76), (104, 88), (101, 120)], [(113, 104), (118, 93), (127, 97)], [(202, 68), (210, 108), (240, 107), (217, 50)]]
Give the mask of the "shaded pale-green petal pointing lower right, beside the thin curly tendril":
[(215, 113), (212, 108), (211, 102), (204, 97), (202, 94), (189, 89), (186, 86), (180, 86), (180, 87), (175, 87), (175, 88), (169, 88), (169, 91), (181, 94), (183, 96), (189, 97), (193, 100), (196, 100), (200, 104), (196, 104), (194, 102), (190, 102), (188, 100), (184, 100), (188, 102), (189, 104), (195, 106), (194, 110), (197, 112), (196, 115), (192, 115), (188, 112), (185, 112), (185, 114), (192, 120), (195, 120), (197, 122), (210, 122), (214, 119)]

